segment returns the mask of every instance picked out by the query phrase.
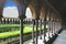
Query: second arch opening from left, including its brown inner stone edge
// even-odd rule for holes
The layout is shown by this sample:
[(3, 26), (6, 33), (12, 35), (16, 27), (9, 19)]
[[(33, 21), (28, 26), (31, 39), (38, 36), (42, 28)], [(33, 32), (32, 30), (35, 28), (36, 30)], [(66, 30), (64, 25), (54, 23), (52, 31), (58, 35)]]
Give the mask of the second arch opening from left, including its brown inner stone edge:
[(25, 21), (28, 24), (32, 24), (32, 20), (35, 19), (35, 10), (32, 4), (29, 4), (25, 10)]

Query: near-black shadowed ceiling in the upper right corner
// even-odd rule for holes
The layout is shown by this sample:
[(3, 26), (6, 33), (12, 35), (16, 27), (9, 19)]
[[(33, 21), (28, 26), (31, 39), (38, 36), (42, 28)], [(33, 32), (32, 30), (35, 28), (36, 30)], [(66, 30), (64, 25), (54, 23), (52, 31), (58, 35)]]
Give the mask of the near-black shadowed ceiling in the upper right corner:
[(66, 0), (48, 0), (66, 21)]

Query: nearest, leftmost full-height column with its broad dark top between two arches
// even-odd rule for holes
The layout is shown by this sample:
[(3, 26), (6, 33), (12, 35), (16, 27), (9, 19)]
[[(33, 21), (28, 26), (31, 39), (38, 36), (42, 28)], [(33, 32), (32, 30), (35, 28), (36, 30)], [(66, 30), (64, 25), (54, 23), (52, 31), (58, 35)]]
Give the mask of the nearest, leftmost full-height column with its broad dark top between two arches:
[(20, 6), (18, 8), (21, 8), (21, 10), (19, 10), (19, 18), (20, 18), (20, 44), (24, 44), (23, 43), (23, 20), (25, 19), (25, 4), (24, 4), (24, 0), (19, 0)]

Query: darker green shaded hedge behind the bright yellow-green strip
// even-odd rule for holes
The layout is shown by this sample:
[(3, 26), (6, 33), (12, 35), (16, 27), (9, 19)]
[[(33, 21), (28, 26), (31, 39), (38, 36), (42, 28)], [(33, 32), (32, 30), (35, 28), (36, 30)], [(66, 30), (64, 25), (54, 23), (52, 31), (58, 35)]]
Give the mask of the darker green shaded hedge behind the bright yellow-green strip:
[[(29, 26), (29, 25), (24, 24), (24, 26)], [(20, 29), (20, 24), (0, 24), (0, 33), (19, 31), (19, 29)]]

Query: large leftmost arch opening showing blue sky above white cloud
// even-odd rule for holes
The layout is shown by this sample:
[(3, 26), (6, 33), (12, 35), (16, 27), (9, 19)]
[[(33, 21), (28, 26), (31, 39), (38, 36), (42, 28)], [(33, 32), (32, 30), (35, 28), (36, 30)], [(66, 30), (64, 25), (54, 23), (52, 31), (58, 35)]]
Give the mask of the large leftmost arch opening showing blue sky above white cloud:
[(19, 11), (15, 2), (13, 2), (12, 0), (6, 2), (2, 14), (4, 18), (18, 18)]

